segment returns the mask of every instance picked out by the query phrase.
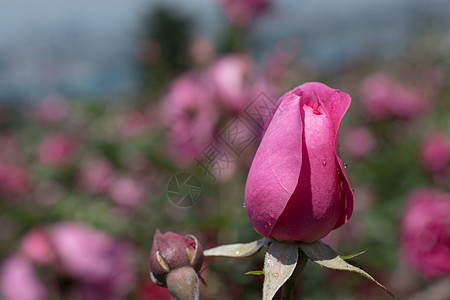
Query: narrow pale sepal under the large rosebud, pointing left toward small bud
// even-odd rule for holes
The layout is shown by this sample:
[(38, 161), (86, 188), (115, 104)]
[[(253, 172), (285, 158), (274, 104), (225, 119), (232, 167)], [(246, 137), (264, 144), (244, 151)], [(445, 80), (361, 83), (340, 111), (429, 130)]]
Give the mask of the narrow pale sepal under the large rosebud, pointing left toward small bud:
[(225, 257), (249, 257), (258, 253), (258, 251), (271, 239), (262, 238), (260, 240), (246, 244), (223, 245), (205, 250), (204, 256), (225, 256)]

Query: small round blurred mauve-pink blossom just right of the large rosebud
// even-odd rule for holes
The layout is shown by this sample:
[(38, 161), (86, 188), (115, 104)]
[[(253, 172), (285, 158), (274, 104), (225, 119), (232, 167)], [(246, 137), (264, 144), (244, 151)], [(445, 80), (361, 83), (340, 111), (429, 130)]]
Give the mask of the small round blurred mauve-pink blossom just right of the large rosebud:
[(365, 127), (355, 127), (344, 135), (344, 145), (349, 153), (356, 157), (368, 157), (376, 147), (372, 132)]

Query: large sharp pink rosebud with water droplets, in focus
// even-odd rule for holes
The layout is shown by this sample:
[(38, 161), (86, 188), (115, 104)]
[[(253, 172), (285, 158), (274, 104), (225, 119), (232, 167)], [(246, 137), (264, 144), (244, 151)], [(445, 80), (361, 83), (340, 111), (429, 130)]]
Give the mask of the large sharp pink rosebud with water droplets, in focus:
[(350, 102), (348, 94), (322, 83), (305, 83), (278, 100), (245, 188), (257, 232), (314, 242), (348, 221), (353, 195), (338, 137)]

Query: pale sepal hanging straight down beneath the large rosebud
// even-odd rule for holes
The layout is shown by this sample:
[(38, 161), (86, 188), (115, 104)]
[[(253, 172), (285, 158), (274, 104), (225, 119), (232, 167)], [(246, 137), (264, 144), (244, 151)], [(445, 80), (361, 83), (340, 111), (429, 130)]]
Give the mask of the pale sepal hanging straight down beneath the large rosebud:
[(298, 245), (272, 241), (264, 259), (263, 300), (271, 300), (291, 277), (298, 260)]

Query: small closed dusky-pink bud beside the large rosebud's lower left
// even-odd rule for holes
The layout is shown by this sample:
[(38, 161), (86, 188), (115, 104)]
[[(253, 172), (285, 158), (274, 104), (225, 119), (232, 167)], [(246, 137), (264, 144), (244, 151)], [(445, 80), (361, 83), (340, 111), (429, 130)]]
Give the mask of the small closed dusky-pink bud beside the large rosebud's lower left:
[(181, 236), (173, 232), (161, 234), (156, 229), (150, 251), (150, 274), (159, 285), (167, 286), (167, 276), (173, 270), (189, 267), (198, 273), (203, 264), (203, 248), (192, 236)]

